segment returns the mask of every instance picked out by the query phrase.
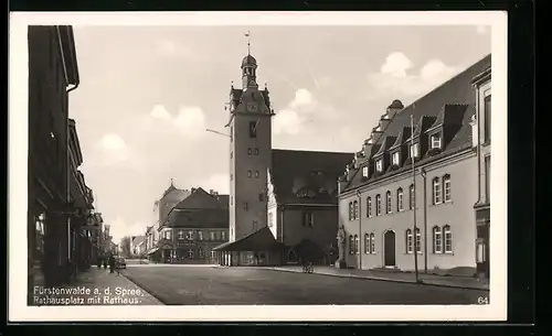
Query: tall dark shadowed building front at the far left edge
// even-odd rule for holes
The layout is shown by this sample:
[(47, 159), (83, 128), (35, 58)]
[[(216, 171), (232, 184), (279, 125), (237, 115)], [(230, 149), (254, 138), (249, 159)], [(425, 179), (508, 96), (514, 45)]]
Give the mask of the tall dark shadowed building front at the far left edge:
[(70, 217), (68, 93), (79, 83), (71, 26), (29, 26), (28, 283), (67, 283)]

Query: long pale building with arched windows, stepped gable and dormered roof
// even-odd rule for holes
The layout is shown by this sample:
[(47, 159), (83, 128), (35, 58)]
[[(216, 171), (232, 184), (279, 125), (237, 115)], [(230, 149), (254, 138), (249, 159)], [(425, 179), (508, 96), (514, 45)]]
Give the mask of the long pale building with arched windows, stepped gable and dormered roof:
[(490, 55), (404, 108), (393, 101), (339, 178), (340, 267), (473, 274), (471, 79)]

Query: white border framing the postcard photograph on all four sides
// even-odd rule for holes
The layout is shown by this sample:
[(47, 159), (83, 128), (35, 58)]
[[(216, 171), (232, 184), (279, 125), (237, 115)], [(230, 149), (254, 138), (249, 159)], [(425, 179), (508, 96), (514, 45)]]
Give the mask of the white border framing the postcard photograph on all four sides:
[[(285, 20), (284, 20), (285, 19)], [(258, 306), (26, 306), (28, 44), (30, 24), (72, 25), (487, 25), (492, 43), (490, 304)], [(507, 13), (506, 12), (135, 12), (10, 13), (9, 321), (506, 321)]]

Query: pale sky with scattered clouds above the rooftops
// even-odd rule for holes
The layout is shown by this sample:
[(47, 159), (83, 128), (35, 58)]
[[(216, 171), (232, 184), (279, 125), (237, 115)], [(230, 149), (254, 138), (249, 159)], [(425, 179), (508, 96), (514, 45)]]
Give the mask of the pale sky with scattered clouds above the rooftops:
[(406, 106), (490, 53), (486, 26), (75, 26), (71, 93), (96, 208), (118, 242), (156, 220), (170, 185), (227, 193), (231, 80), (251, 31), (280, 149), (358, 151), (393, 99)]

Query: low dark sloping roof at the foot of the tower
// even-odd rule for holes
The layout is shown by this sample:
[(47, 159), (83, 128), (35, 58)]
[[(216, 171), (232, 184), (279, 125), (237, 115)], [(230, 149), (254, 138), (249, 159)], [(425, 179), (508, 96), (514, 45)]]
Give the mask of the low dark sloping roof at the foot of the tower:
[(285, 246), (278, 242), (268, 227), (245, 236), (236, 241), (229, 241), (215, 247), (214, 251), (273, 251), (282, 250)]

